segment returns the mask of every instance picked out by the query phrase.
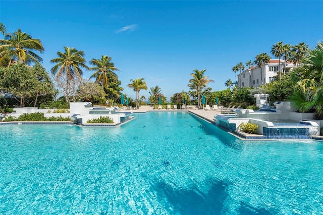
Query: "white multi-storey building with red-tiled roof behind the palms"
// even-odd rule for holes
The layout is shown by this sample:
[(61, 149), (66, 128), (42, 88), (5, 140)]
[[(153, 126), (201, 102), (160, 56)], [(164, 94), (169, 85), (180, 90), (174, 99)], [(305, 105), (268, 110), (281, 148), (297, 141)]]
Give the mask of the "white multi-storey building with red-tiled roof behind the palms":
[[(286, 66), (285, 72), (288, 73), (291, 69), (295, 67), (292, 63), (284, 63), (284, 60), (281, 59), (281, 71), (284, 71), (284, 66)], [(250, 69), (246, 69), (238, 74), (238, 87), (259, 87), (265, 83), (270, 83), (274, 80), (274, 77), (277, 76), (279, 70), (279, 60), (272, 59), (269, 63), (264, 64), (261, 67), (255, 66)], [(262, 77), (261, 77), (262, 76)], [(262, 78), (262, 81), (261, 81)]]

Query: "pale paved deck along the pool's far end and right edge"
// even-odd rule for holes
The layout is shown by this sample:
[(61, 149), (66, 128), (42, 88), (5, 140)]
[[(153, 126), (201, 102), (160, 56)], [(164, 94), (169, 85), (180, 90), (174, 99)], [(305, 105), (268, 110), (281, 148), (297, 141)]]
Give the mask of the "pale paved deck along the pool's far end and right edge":
[(205, 110), (196, 110), (196, 109), (178, 109), (178, 110), (174, 110), (174, 109), (161, 109), (161, 110), (155, 110), (153, 106), (149, 106), (149, 105), (146, 105), (146, 106), (140, 106), (139, 109), (137, 110), (131, 110), (131, 112), (133, 113), (145, 113), (145, 112), (148, 112), (148, 111), (188, 111), (188, 112), (191, 112), (209, 122), (214, 122), (213, 119), (214, 119), (214, 116), (217, 115), (217, 114), (221, 114), (221, 111), (205, 111)]

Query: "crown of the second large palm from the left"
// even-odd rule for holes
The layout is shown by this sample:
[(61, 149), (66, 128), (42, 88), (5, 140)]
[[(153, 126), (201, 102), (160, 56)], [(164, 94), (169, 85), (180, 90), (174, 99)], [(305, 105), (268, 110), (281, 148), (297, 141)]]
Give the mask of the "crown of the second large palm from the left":
[(61, 74), (65, 73), (67, 75), (67, 81), (73, 78), (81, 78), (83, 75), (81, 67), (89, 69), (85, 65), (86, 60), (84, 59), (84, 51), (79, 51), (76, 48), (64, 46), (65, 52), (58, 51), (58, 58), (50, 60), (50, 63), (56, 63), (50, 71), (53, 75), (56, 75), (57, 78)]

